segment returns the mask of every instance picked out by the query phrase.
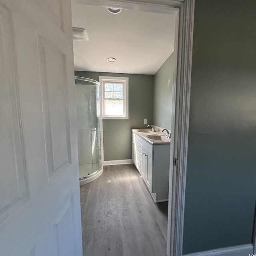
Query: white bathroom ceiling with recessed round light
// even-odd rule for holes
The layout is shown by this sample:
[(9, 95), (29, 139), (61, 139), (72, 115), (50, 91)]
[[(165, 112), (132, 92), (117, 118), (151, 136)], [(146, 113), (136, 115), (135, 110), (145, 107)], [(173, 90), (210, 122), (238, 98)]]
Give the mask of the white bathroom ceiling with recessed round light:
[[(85, 28), (89, 41), (74, 44), (75, 70), (155, 74), (174, 51), (175, 16), (72, 4), (72, 26)], [(107, 58), (116, 59), (108, 63)]]

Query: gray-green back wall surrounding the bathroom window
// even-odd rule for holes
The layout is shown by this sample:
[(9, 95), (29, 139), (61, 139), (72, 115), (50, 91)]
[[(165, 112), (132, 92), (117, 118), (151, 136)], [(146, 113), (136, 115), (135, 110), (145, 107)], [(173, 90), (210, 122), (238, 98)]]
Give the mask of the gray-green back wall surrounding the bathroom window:
[(148, 124), (152, 124), (154, 76), (83, 71), (75, 71), (75, 75), (97, 81), (99, 76), (129, 78), (129, 119), (103, 120), (103, 144), (105, 161), (131, 159), (131, 129), (146, 128), (144, 119), (148, 119)]

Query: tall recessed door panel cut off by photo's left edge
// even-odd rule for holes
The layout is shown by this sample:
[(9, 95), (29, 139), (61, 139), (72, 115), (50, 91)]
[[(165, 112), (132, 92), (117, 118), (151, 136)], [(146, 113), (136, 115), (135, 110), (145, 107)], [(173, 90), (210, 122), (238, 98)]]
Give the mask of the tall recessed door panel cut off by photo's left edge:
[(0, 223), (28, 200), (11, 11), (0, 2)]

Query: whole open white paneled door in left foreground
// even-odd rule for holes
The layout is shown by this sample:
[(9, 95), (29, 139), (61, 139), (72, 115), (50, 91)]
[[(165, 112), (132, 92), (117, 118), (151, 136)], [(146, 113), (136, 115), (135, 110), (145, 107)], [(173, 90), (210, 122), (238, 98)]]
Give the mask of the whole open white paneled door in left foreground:
[(0, 0), (0, 255), (81, 256), (70, 0)]

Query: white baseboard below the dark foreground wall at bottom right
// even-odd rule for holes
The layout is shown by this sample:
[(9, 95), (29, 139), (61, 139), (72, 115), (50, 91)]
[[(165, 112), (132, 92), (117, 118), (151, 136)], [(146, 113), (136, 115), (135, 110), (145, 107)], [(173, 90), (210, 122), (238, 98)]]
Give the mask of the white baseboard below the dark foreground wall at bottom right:
[(253, 253), (252, 244), (243, 244), (238, 246), (231, 246), (219, 248), (216, 250), (209, 250), (204, 252), (194, 252), (184, 256), (248, 256)]

